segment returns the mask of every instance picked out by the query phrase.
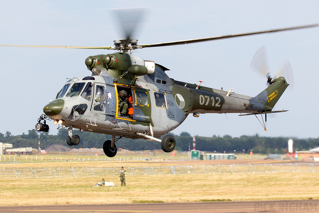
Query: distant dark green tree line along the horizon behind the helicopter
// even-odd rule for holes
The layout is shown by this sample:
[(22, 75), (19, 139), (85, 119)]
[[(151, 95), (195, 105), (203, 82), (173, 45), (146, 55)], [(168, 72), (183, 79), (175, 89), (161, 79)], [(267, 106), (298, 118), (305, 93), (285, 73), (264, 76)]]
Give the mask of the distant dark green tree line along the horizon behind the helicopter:
[[(11, 135), (9, 131), (5, 134), (0, 133), (0, 142), (10, 143), (13, 148), (19, 147), (39, 147), (39, 132), (35, 129), (29, 130), (28, 134)], [(76, 148), (102, 148), (106, 140), (111, 140), (111, 135), (90, 133), (85, 131), (74, 130), (73, 134), (77, 134), (81, 138), (81, 142)], [(193, 149), (193, 137), (187, 133), (182, 132), (180, 135), (174, 135), (176, 140), (175, 150), (188, 151), (189, 145)], [(75, 146), (68, 146), (66, 138), (68, 136), (67, 129), (59, 130), (57, 135), (49, 135), (48, 133), (40, 133), (40, 148), (61, 143), (66, 147), (75, 148)], [(218, 153), (249, 153), (251, 150), (256, 154), (278, 153), (283, 154), (285, 149), (288, 149), (289, 137), (260, 137), (258, 134), (253, 136), (242, 135), (240, 137), (231, 137), (224, 135), (222, 137), (213, 135), (212, 137), (195, 136), (196, 149), (206, 152)], [(319, 146), (318, 138), (292, 138), (294, 150), (309, 150)], [(121, 138), (116, 142), (117, 148), (128, 149), (131, 151), (137, 150), (154, 150), (160, 149), (160, 143), (156, 141), (147, 141), (144, 139), (129, 139)]]

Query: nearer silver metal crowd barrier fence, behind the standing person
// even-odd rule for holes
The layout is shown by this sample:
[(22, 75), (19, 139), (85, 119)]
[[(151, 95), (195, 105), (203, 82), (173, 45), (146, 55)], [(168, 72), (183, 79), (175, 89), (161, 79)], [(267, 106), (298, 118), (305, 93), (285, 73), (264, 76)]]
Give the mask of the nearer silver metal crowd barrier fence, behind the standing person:
[[(120, 168), (104, 167), (0, 167), (0, 178), (58, 178), (116, 175)], [(276, 172), (319, 172), (319, 164), (232, 164), (232, 165), (178, 165), (160, 167), (130, 167), (130, 175), (163, 174), (237, 174), (237, 173), (276, 173)]]

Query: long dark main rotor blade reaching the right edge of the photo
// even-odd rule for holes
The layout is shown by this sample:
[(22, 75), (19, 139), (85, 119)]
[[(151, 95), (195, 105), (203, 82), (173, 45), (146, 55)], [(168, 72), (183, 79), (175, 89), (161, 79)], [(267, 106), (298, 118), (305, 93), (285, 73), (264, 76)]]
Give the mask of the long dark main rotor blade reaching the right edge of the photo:
[(140, 46), (142, 48), (144, 48), (144, 47), (163, 47), (163, 46), (171, 46), (171, 45), (179, 45), (179, 44), (207, 42), (207, 41), (212, 41), (212, 40), (240, 37), (240, 36), (246, 36), (246, 35), (262, 34), (262, 33), (274, 33), (274, 32), (278, 32), (278, 31), (296, 30), (296, 29), (309, 28), (309, 27), (318, 27), (318, 26), (319, 26), (319, 24), (303, 25), (303, 26), (298, 26), (298, 27), (280, 28), (280, 29), (273, 29), (273, 30), (266, 30), (266, 31), (257, 31), (257, 32), (251, 32), (251, 33), (243, 33), (243, 34), (219, 35), (219, 36), (214, 36), (214, 37), (189, 39), (189, 40), (182, 40), (182, 41), (176, 41), (176, 42), (164, 42), (164, 43), (155, 43), (155, 44), (141, 44)]

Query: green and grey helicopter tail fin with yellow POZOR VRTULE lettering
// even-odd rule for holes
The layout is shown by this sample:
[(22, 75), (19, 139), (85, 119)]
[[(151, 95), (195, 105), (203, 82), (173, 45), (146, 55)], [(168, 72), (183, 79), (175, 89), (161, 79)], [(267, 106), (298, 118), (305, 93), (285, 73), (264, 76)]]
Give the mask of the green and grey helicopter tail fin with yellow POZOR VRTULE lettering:
[(285, 92), (288, 85), (289, 84), (286, 82), (284, 77), (279, 77), (278, 79), (275, 79), (274, 83), (256, 96), (256, 98), (264, 104), (265, 111), (272, 110), (280, 96)]

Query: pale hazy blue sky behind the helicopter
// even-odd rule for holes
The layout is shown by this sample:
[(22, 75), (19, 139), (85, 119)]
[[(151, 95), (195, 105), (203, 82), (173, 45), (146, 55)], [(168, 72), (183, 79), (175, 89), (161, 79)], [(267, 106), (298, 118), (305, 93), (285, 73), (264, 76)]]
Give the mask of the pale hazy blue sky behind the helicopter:
[[(319, 23), (319, 1), (2, 1), (0, 43), (111, 46), (121, 38), (114, 8), (148, 8), (135, 34), (139, 44), (178, 41)], [(289, 110), (267, 120), (264, 131), (255, 116), (189, 116), (173, 131), (201, 136), (229, 134), (315, 137), (319, 27), (211, 42), (145, 48), (134, 54), (170, 69), (169, 77), (203, 86), (256, 96), (266, 81), (250, 67), (254, 53), (266, 45), (274, 74), (289, 59), (294, 90), (286, 90), (274, 110)], [(66, 78), (90, 75), (85, 58), (113, 50), (0, 47), (0, 132), (13, 135), (33, 129), (43, 107)], [(289, 82), (288, 82), (289, 83)], [(229, 120), (229, 121), (228, 121)], [(52, 123), (50, 134), (57, 130)]]

